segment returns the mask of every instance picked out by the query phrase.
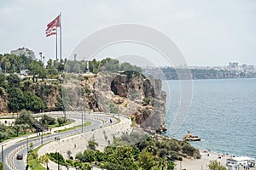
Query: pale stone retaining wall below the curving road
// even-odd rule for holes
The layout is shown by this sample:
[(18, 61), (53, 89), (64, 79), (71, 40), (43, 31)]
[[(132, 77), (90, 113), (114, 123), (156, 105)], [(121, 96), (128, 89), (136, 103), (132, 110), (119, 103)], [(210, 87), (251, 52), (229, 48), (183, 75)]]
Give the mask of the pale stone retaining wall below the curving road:
[[(102, 114), (102, 116), (106, 116)], [(109, 115), (107, 115), (109, 116)], [(111, 115), (112, 116), (112, 115)], [(65, 139), (60, 139), (49, 144), (45, 144), (42, 148), (38, 150), (38, 157), (43, 156), (50, 152), (59, 152), (67, 159), (67, 150), (71, 151), (71, 156), (79, 152), (84, 152), (87, 149), (87, 144), (90, 139), (94, 139), (98, 143), (97, 150), (104, 150), (108, 144), (113, 142), (113, 137), (120, 137), (124, 133), (131, 133), (131, 119), (125, 116), (114, 116), (120, 120), (119, 123), (113, 124), (108, 127), (98, 128), (89, 132), (75, 134), (73, 136), (67, 137)], [(58, 165), (49, 161), (49, 169), (58, 169)], [(67, 169), (67, 167), (60, 166), (61, 170)], [(69, 170), (75, 169), (74, 167), (69, 167)]]

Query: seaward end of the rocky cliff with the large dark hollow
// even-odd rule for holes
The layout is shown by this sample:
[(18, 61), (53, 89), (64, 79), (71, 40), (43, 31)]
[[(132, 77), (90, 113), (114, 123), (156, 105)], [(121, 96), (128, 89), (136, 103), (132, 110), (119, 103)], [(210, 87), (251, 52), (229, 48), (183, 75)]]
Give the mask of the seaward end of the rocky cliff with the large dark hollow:
[[(113, 78), (111, 90), (119, 98), (128, 99), (122, 112), (134, 115), (137, 125), (149, 131), (165, 129), (166, 94), (161, 91), (160, 80), (149, 80), (142, 74), (126, 71)], [(120, 105), (116, 99), (113, 102)]]

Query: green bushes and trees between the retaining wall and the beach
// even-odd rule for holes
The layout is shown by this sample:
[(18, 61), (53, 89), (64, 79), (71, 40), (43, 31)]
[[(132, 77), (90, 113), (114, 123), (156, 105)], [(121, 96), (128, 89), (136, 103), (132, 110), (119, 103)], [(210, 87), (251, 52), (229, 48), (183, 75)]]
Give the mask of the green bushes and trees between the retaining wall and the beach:
[[(187, 142), (176, 139), (154, 139), (147, 134), (125, 134), (120, 139), (114, 139), (112, 145), (104, 152), (96, 150), (97, 143), (94, 140), (88, 142), (88, 150), (78, 153), (73, 161), (64, 160), (60, 153), (49, 153), (49, 159), (61, 164), (90, 169), (89, 165), (97, 165), (110, 170), (133, 170), (133, 169), (174, 169), (175, 160), (182, 160), (180, 156), (194, 156), (199, 158), (199, 152)], [(68, 151), (67, 151), (68, 152)], [(182, 153), (182, 154), (181, 154)]]

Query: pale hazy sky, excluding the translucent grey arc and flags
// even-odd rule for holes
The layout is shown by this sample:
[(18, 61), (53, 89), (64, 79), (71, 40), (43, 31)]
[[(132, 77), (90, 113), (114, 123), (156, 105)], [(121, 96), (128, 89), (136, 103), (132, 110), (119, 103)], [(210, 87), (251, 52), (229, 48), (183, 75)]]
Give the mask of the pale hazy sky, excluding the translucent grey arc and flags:
[[(60, 12), (62, 58), (72, 59), (73, 50), (95, 31), (132, 23), (171, 38), (188, 65), (256, 65), (254, 0), (0, 0), (0, 54), (25, 47), (38, 58), (42, 52), (55, 59), (55, 36), (45, 37), (45, 29)], [(105, 48), (96, 57), (127, 54), (166, 64), (152, 48), (132, 43)]]

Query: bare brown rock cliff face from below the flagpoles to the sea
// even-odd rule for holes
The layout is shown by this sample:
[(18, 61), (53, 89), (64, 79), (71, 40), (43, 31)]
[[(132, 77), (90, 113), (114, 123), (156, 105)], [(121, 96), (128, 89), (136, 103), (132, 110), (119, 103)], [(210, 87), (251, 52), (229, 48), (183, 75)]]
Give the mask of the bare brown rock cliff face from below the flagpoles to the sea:
[(166, 130), (166, 94), (160, 80), (133, 71), (84, 74), (68, 78), (63, 92), (69, 111), (120, 113), (133, 116), (135, 124), (149, 132)]

